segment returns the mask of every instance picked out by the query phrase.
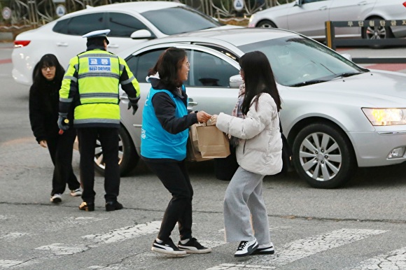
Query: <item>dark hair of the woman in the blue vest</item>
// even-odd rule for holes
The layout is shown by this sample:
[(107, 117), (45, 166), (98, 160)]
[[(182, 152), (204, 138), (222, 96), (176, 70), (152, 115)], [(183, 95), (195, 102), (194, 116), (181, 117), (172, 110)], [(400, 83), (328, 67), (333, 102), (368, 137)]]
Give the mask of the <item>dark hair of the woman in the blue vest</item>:
[(158, 58), (155, 66), (148, 71), (148, 76), (159, 73), (160, 81), (172, 90), (183, 85), (179, 80), (178, 71), (182, 67), (183, 60), (187, 57), (186, 51), (179, 48), (167, 48)]

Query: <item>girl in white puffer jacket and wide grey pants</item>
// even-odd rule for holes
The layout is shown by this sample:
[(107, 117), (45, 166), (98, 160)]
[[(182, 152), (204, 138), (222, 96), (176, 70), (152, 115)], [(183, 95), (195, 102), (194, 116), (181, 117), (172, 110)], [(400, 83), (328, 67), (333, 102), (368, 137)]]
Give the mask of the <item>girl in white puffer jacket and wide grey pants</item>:
[(235, 257), (274, 254), (262, 179), (282, 169), (281, 99), (265, 54), (248, 52), (239, 65), (245, 83), (244, 101), (237, 108), (242, 118), (225, 113), (211, 118), (218, 129), (239, 138), (239, 168), (224, 198), (225, 241), (240, 241)]

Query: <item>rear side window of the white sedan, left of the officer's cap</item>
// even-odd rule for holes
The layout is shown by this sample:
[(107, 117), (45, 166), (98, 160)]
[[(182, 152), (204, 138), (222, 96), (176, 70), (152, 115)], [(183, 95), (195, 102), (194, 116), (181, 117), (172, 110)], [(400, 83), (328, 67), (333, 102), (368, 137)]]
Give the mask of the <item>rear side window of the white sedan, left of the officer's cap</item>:
[(61, 34), (82, 36), (105, 28), (104, 13), (90, 13), (60, 20), (52, 30)]

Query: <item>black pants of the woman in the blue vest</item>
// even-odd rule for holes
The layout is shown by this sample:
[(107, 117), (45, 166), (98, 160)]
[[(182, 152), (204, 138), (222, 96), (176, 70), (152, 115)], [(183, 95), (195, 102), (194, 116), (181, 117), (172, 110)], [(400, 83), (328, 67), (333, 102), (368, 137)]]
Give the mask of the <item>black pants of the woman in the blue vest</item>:
[(185, 161), (149, 162), (144, 160), (144, 162), (172, 194), (172, 199), (169, 201), (162, 219), (158, 239), (167, 241), (176, 222), (179, 225), (181, 240), (192, 238), (193, 187), (190, 184)]

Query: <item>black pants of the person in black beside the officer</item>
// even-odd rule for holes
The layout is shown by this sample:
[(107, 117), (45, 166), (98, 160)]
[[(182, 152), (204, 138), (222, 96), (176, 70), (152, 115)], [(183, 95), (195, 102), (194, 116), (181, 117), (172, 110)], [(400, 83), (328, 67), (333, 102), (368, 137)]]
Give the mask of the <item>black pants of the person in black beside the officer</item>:
[(62, 194), (66, 189), (66, 183), (69, 190), (76, 190), (80, 187), (78, 178), (72, 169), (73, 142), (76, 138), (76, 130), (71, 128), (64, 134), (49, 136), (47, 138), (48, 151), (54, 164), (54, 173), (52, 176), (52, 191), (54, 194)]

